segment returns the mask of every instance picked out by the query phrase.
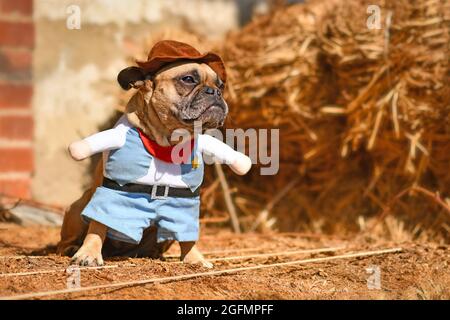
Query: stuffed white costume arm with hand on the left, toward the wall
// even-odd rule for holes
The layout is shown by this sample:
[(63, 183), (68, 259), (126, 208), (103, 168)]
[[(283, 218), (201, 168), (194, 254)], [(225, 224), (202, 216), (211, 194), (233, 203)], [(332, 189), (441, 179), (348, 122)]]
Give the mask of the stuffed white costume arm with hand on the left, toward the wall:
[(128, 127), (119, 123), (115, 128), (93, 134), (83, 140), (73, 142), (69, 152), (73, 159), (80, 161), (96, 153), (119, 149), (125, 144)]

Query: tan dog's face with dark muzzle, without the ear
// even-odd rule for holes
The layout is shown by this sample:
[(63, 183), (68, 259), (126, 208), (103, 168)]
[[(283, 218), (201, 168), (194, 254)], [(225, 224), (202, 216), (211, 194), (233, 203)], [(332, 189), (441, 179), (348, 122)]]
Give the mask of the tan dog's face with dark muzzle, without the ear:
[(151, 100), (161, 119), (175, 118), (184, 128), (196, 121), (205, 129), (223, 125), (228, 113), (224, 84), (208, 65), (169, 65), (155, 75), (153, 86)]

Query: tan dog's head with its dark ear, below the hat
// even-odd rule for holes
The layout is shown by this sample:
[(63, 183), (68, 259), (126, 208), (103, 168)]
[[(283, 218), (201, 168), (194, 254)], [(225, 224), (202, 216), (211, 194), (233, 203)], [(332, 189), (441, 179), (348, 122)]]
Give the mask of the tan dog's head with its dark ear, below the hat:
[[(121, 75), (122, 74), (122, 75)], [(151, 79), (145, 79), (140, 69), (127, 68), (119, 74), (124, 89), (139, 83), (146, 97), (141, 106), (142, 115), (152, 122), (152, 108), (162, 125), (170, 132), (183, 128), (193, 131), (194, 124), (203, 129), (223, 125), (228, 106), (222, 97), (224, 84), (206, 64), (176, 62), (159, 70)], [(155, 114), (153, 114), (155, 116)]]

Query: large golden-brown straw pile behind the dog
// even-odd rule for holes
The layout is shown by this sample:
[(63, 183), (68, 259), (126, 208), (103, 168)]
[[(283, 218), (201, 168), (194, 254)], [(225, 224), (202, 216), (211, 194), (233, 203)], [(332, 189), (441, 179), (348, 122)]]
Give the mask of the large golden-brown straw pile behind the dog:
[[(369, 4), (381, 30), (366, 26)], [(284, 230), (357, 231), (414, 184), (449, 197), (449, 17), (444, 0), (311, 1), (231, 34), (230, 126), (281, 133), (277, 176), (228, 176), (244, 220), (295, 177), (271, 212)], [(448, 238), (443, 210), (410, 196), (393, 212)]]

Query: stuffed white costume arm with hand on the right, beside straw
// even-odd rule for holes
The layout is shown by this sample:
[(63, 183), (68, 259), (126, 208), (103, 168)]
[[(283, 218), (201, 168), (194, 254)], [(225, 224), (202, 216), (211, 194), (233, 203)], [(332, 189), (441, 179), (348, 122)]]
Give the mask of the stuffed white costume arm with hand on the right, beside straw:
[(245, 154), (207, 134), (199, 135), (198, 139), (200, 151), (214, 156), (220, 163), (229, 165), (234, 173), (244, 175), (250, 170), (252, 161)]

